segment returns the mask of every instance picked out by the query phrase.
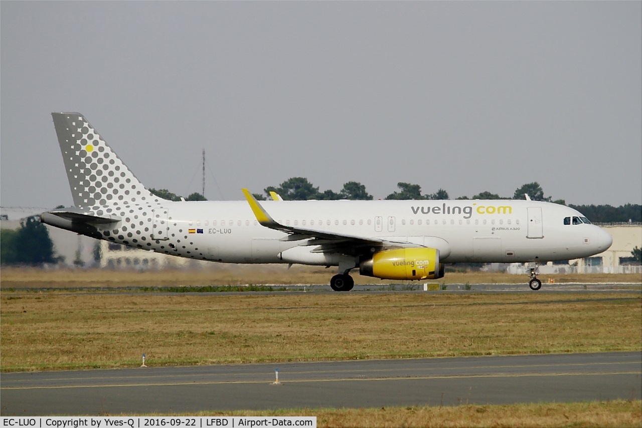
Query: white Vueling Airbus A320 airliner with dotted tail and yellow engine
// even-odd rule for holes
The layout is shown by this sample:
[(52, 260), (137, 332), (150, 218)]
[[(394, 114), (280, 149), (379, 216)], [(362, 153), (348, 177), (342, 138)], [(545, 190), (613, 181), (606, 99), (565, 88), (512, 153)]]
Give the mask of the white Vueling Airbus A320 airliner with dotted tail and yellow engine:
[(435, 280), (447, 263), (528, 263), (529, 287), (541, 288), (539, 263), (602, 253), (609, 233), (580, 212), (551, 202), (455, 201), (167, 201), (153, 195), (85, 117), (51, 114), (74, 207), (40, 220), (96, 239), (221, 263), (337, 267), (335, 291), (350, 276)]

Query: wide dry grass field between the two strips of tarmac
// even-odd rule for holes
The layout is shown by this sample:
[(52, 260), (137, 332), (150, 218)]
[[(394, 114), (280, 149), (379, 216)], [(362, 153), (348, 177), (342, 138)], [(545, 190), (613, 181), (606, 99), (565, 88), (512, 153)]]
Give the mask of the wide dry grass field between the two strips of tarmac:
[(642, 348), (639, 294), (6, 292), (0, 369)]

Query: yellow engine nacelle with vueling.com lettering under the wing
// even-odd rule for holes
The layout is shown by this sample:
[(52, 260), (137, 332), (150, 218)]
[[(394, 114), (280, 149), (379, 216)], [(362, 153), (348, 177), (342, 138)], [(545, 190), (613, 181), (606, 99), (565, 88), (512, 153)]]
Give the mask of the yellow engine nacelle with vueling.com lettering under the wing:
[(382, 280), (435, 280), (444, 276), (436, 248), (399, 248), (381, 251), (361, 262), (359, 273)]

